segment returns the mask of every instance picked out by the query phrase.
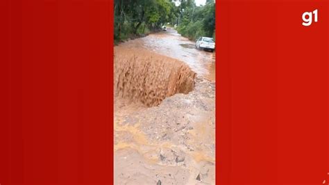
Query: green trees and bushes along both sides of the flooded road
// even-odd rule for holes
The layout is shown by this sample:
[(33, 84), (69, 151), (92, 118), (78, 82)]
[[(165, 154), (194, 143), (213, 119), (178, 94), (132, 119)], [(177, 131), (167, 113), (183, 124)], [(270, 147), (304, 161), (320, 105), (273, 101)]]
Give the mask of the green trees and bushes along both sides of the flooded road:
[(194, 0), (115, 0), (115, 42), (177, 26), (178, 33), (195, 40), (214, 36), (214, 1), (196, 6)]

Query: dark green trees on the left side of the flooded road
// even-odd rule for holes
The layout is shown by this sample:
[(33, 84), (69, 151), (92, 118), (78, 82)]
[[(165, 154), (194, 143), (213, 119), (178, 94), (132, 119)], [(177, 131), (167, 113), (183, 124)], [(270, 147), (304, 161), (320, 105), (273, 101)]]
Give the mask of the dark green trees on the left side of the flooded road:
[[(170, 0), (115, 0), (115, 40), (124, 40), (144, 30), (156, 30), (176, 19)], [(146, 27), (146, 29), (145, 29)]]

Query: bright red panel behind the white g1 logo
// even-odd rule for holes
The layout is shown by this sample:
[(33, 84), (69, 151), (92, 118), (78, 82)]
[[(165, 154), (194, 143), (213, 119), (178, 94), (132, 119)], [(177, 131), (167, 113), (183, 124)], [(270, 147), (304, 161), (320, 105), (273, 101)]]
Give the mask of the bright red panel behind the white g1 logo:
[(218, 184), (329, 181), (328, 6), (217, 1)]

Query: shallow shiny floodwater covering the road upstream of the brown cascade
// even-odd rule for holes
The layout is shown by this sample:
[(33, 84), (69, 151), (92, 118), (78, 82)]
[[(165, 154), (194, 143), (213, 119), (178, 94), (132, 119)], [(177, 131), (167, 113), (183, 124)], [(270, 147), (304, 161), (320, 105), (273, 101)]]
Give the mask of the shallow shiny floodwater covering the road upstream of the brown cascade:
[(157, 54), (176, 58), (183, 61), (201, 77), (215, 81), (214, 53), (199, 51), (195, 42), (183, 38), (176, 30), (168, 28), (167, 31), (151, 34), (145, 38), (130, 40), (120, 44), (125, 48), (144, 48)]

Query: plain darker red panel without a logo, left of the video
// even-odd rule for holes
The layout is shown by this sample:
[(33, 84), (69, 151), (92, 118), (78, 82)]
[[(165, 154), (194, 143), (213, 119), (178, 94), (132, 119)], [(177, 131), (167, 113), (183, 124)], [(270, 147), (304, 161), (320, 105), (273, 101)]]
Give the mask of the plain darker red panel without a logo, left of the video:
[(112, 1), (0, 7), (0, 184), (112, 184)]

